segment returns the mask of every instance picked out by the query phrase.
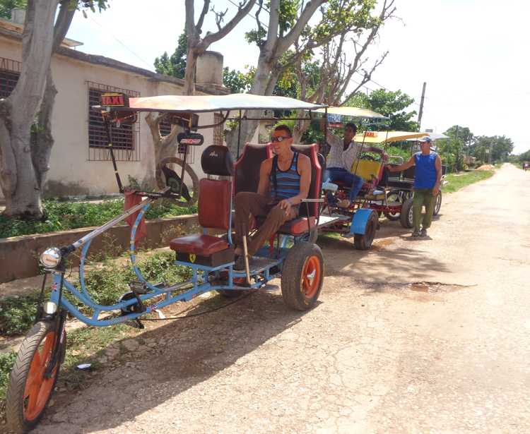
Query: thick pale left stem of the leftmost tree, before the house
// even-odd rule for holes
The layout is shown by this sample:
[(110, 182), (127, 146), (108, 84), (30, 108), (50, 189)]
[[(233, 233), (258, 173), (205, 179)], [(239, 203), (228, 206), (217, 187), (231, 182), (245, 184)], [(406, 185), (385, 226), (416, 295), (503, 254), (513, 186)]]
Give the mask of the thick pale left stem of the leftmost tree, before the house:
[(37, 176), (33, 167), (30, 130), (49, 72), (57, 4), (58, 0), (28, 1), (22, 71), (16, 88), (0, 104), (0, 180), (8, 216), (42, 217), (42, 174)]

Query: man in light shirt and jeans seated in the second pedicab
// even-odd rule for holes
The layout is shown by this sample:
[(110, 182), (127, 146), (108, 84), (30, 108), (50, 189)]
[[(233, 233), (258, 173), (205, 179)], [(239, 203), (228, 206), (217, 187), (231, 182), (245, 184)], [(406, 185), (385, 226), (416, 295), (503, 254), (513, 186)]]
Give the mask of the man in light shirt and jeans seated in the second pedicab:
[(355, 123), (346, 123), (343, 139), (331, 133), (329, 129), (326, 131), (326, 141), (331, 149), (326, 159), (324, 182), (342, 181), (346, 187), (350, 188), (348, 199), (343, 199), (337, 204), (341, 208), (348, 208), (363, 187), (363, 179), (350, 171), (353, 161), (358, 157), (361, 148), (365, 152), (373, 150), (372, 147), (363, 147), (355, 143), (353, 141), (355, 133), (357, 133)]

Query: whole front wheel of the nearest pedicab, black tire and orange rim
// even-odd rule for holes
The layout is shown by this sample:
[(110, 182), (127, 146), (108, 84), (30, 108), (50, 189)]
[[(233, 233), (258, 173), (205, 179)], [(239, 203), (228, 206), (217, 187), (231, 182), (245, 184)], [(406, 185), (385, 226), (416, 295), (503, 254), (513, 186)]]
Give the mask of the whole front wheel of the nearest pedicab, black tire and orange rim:
[[(52, 397), (55, 385), (57, 384), (57, 378), (59, 378), (59, 370), (61, 368), (61, 363), (64, 361), (64, 351), (66, 351), (66, 333), (62, 331), (61, 336), (61, 348), (59, 349), (59, 359), (57, 361), (57, 367), (52, 373), (52, 377), (45, 379), (41, 375), (35, 375), (35, 381), (33, 382), (33, 387), (38, 387), (37, 396), (35, 398), (36, 402), (31, 401), (30, 396), (35, 396), (31, 394), (26, 394), (28, 387), (33, 387), (27, 385), (27, 380), (30, 375), (30, 370), (38, 372), (39, 367), (45, 366), (49, 357), (52, 355), (53, 350), (53, 341), (55, 336), (55, 324), (51, 321), (41, 320), (35, 324), (30, 332), (26, 335), (20, 349), (18, 350), (18, 355), (16, 357), (15, 364), (11, 370), (11, 375), (9, 377), (9, 385), (6, 396), (6, 418), (8, 427), (13, 430), (14, 433), (27, 433), (29, 430), (32, 430), (37, 423), (39, 423), (40, 418), (45, 413), (46, 406), (49, 402), (49, 398)], [(49, 339), (49, 340), (48, 340)], [(35, 354), (42, 346), (42, 349), (39, 353), (39, 358), (35, 358)], [(48, 350), (49, 346), (51, 349)], [(43, 354), (46, 353), (46, 354)], [(41, 361), (40, 356), (45, 356), (45, 361)], [(33, 363), (35, 361), (35, 363)], [(39, 384), (37, 384), (37, 382)], [(28, 391), (28, 393), (30, 393)], [(35, 409), (33, 409), (35, 406)]]

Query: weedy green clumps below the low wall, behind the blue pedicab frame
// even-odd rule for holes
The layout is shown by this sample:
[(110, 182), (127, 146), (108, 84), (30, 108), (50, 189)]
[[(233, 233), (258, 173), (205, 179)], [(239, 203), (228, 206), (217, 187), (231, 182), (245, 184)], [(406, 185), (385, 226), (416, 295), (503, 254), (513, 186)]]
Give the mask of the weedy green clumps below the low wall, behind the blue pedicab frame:
[[(190, 271), (187, 267), (173, 264), (175, 254), (172, 252), (159, 252), (141, 258), (138, 261), (142, 275), (149, 282), (167, 282), (175, 284), (189, 279)], [(95, 303), (109, 305), (116, 303), (119, 296), (129, 291), (129, 282), (135, 280), (133, 270), (129, 263), (106, 260), (88, 271), (86, 275), (86, 288)], [(70, 281), (79, 288), (77, 279)], [(92, 311), (71, 294), (64, 292), (74, 306), (83, 313)], [(49, 289), (45, 300), (49, 298)], [(0, 300), (0, 333), (7, 336), (25, 334), (33, 325), (37, 312), (38, 294), (7, 297)]]

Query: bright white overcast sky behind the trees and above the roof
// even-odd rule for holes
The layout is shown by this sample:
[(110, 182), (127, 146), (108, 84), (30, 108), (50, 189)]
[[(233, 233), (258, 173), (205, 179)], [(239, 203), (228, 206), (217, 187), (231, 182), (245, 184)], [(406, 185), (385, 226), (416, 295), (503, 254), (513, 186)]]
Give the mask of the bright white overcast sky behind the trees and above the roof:
[[(229, 8), (228, 15), (235, 9), (230, 0), (212, 3)], [(389, 56), (372, 76), (377, 84), (367, 87), (401, 89), (416, 100), (411, 109), (418, 111), (425, 81), (422, 129), (443, 132), (459, 124), (475, 135), (507, 135), (515, 152), (529, 150), (524, 119), (530, 100), (530, 1), (396, 0), (396, 6), (401, 20), (384, 27), (369, 53), (375, 58), (389, 50)], [(257, 49), (244, 40), (254, 25), (247, 16), (210, 47), (223, 53), (225, 66), (257, 63)], [(76, 14), (68, 37), (83, 42), (78, 48), (83, 52), (153, 70), (155, 57), (171, 54), (183, 30), (184, 0), (110, 0), (101, 14)], [(215, 24), (207, 22), (204, 30), (215, 30)]]

